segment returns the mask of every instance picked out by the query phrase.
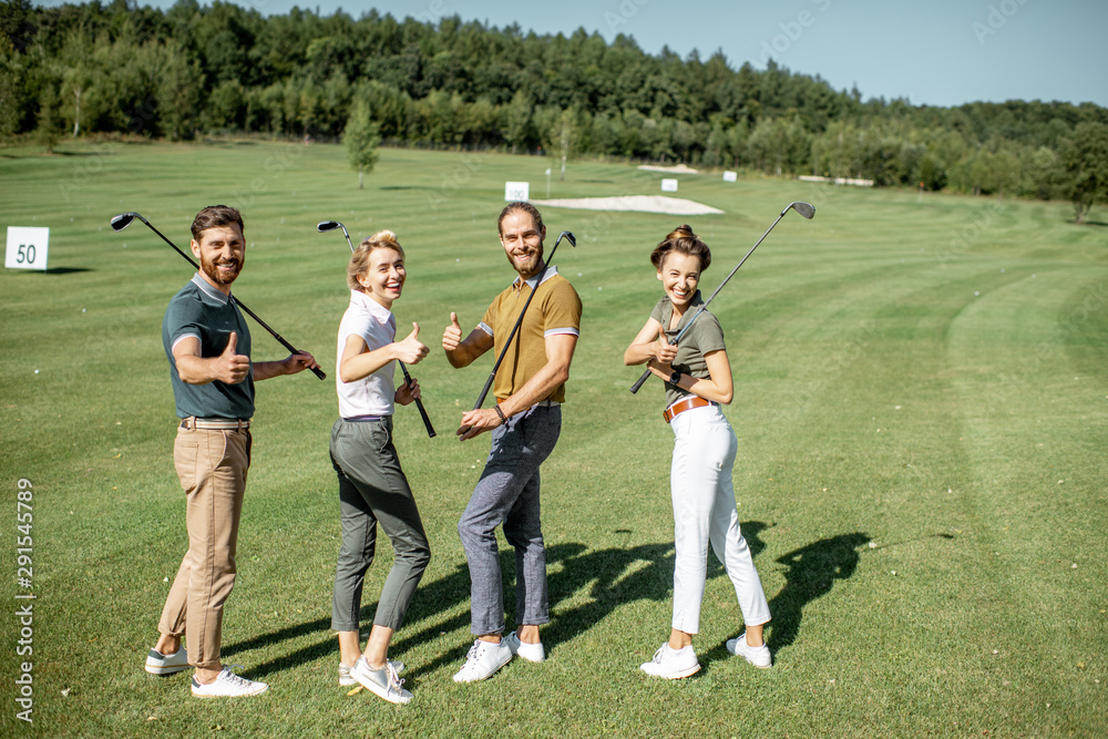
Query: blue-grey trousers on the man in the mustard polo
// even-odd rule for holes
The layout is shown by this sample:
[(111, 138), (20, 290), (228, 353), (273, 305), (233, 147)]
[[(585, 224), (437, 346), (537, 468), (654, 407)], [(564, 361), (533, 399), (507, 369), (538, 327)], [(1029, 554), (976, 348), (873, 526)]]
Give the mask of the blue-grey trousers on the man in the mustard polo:
[(476, 636), (504, 630), (495, 533), (500, 524), (515, 548), (516, 624), (550, 622), (538, 468), (554, 451), (561, 432), (560, 406), (535, 406), (492, 432), (484, 472), (458, 522), (470, 567), (470, 630)]

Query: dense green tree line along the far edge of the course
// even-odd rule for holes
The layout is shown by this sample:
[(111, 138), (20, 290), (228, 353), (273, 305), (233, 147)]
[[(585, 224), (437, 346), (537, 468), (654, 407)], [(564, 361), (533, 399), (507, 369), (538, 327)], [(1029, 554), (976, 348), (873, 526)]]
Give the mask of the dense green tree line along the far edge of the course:
[(392, 145), (1069, 198), (1078, 219), (1108, 199), (1108, 109), (1091, 103), (863, 101), (772, 60), (735, 69), (721, 51), (683, 59), (623, 34), (608, 43), (583, 29), (540, 35), (424, 16), (2, 0), (0, 137), (338, 140), (357, 110)]

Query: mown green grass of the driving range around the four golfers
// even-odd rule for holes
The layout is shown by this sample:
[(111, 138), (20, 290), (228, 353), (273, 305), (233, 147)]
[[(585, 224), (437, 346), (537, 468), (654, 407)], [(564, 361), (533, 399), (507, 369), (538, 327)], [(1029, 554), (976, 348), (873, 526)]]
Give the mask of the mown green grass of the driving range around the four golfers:
[[(1108, 733), (1108, 228), (1075, 226), (1069, 205), (716, 173), (681, 176), (677, 195), (725, 215), (545, 208), (552, 236), (576, 234), (556, 263), (585, 306), (543, 473), (550, 659), (459, 686), (471, 636), (455, 525), (489, 441), (453, 431), (492, 358), (453, 370), (440, 337), (451, 310), (468, 330), (512, 278), (495, 239), (504, 182), (544, 197), (550, 162), (383, 150), (359, 192), (332, 145), (59, 151), (0, 151), (0, 225), (51, 228), (49, 273), (0, 275), (3, 736), (29, 732), (16, 718), (22, 661), (42, 736)], [(571, 162), (551, 197), (656, 194), (661, 176)], [(648, 254), (691, 222), (712, 248), (710, 292), (797, 199), (815, 218), (787, 216), (712, 304), (776, 665), (729, 658), (741, 618), (709, 556), (702, 669), (652, 679), (638, 665), (669, 633), (671, 434), (660, 383), (630, 394), (639, 369), (622, 361), (660, 296)], [(258, 387), (224, 659), (271, 689), (237, 701), (193, 699), (187, 675), (142, 669), (186, 547), (161, 320), (192, 270), (141, 223), (109, 226), (137, 211), (187, 247), (193, 215), (214, 203), (246, 217), (235, 294), (330, 376)], [(349, 250), (340, 232), (316, 233), (330, 218), (355, 238), (399, 234), (400, 330), (419, 321), (432, 348), (413, 374), (439, 437), (413, 407), (398, 409), (396, 433), (432, 547), (392, 650), (409, 665), (406, 708), (337, 685), (327, 443)], [(252, 330), (255, 359), (285, 356)], [(17, 656), (20, 479), (33, 485), (31, 656)], [(380, 544), (367, 628), (391, 555)]]

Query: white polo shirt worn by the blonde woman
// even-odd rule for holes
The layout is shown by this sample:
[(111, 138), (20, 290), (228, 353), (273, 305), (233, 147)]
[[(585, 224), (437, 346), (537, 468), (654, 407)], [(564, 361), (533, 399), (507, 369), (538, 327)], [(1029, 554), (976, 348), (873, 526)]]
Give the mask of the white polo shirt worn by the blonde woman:
[(392, 343), (397, 338), (397, 321), (392, 311), (365, 292), (350, 290), (350, 307), (339, 324), (338, 361), (335, 367), (335, 387), (339, 393), (339, 415), (392, 415), (396, 387), (392, 372), (396, 362), (389, 362), (372, 374), (353, 382), (343, 382), (339, 367), (347, 338), (360, 336), (369, 351)]

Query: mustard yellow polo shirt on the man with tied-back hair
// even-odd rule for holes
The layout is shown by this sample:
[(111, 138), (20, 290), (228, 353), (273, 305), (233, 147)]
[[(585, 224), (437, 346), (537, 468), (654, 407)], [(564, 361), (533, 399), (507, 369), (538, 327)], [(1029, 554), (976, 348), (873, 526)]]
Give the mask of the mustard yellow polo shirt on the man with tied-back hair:
[[(506, 290), (496, 296), (478, 325), (493, 338), (495, 356), (500, 357), (523, 305), (532, 290), (535, 291), (523, 324), (512, 339), (512, 348), (496, 371), (493, 394), (501, 400), (519, 392), (546, 365), (547, 336), (581, 336), (581, 298), (570, 280), (557, 274), (557, 267), (547, 269), (542, 284), (536, 287), (537, 279), (535, 276), (524, 283), (516, 277)], [(560, 384), (544, 400), (565, 402), (565, 386)]]

